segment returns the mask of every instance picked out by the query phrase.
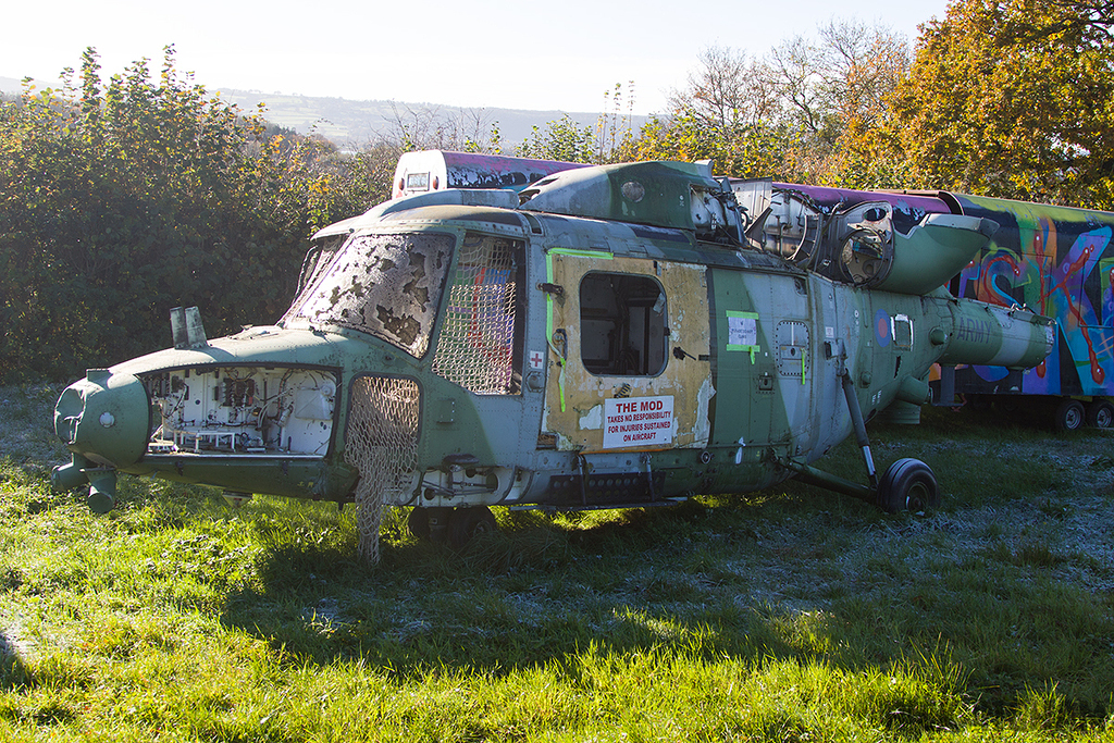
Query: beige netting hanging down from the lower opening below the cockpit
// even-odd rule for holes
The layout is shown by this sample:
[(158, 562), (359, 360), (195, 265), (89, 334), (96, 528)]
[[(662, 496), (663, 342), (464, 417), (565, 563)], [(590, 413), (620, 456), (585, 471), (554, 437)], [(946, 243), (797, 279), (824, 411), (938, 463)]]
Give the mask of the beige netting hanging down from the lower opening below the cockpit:
[(360, 377), (352, 383), (344, 460), (360, 472), (359, 551), (371, 563), (379, 561), (383, 504), (409, 500), (418, 465), (419, 403), (413, 380)]

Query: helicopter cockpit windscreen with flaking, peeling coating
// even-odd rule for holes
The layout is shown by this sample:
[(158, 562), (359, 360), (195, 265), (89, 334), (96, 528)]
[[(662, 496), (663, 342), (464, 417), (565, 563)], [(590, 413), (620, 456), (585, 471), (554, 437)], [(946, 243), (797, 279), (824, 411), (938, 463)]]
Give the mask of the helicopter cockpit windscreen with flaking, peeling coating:
[(314, 277), (283, 324), (352, 327), (421, 358), (452, 256), (455, 237), (437, 233), (355, 235)]

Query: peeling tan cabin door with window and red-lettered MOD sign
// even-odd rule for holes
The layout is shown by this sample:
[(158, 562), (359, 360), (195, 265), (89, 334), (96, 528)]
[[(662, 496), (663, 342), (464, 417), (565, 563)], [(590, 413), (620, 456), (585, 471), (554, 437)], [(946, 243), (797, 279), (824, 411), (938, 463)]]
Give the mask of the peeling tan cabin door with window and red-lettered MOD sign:
[(706, 266), (555, 248), (547, 274), (543, 433), (585, 453), (707, 446)]

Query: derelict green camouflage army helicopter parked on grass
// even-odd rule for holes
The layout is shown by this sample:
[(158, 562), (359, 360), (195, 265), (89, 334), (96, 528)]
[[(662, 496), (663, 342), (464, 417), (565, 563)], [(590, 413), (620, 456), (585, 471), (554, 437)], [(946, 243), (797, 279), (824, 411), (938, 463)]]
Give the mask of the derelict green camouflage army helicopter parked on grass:
[[(211, 341), (175, 311), (175, 348), (61, 394), (56, 487), (88, 483), (96, 510), (117, 472), (407, 506), (416, 534), (456, 544), (492, 505), (644, 507), (790, 477), (921, 509), (931, 470), (878, 477), (864, 422), (915, 417), (934, 363), (1027, 368), (1052, 348), (1048, 320), (944, 287), (986, 218), (906, 224), (880, 198), (772, 241), (763, 187), (736, 198), (706, 163), (518, 187), (430, 189), (321, 231), (274, 325)], [(866, 483), (814, 466), (852, 432)]]

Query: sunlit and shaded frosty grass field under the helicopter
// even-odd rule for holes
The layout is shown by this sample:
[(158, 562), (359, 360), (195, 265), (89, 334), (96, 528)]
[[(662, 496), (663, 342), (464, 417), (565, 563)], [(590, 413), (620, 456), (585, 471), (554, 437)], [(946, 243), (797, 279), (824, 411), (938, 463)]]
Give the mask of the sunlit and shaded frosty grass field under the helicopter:
[(51, 493), (57, 393), (0, 390), (0, 740), (1114, 741), (1114, 434), (932, 411), (870, 432), (934, 515), (791, 482), (455, 554), (393, 512), (367, 567), (335, 506)]

